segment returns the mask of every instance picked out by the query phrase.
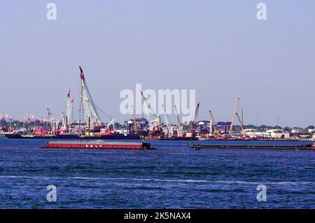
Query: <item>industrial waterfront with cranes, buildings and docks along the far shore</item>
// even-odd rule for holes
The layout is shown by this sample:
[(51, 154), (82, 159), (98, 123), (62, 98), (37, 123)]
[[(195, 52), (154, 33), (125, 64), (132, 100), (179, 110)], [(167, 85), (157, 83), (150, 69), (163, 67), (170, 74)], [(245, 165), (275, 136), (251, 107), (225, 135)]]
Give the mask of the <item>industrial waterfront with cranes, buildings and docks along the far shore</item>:
[[(239, 101), (235, 101), (230, 122), (220, 122), (214, 119), (209, 110), (209, 120), (198, 120), (201, 102), (198, 101), (195, 112), (188, 122), (180, 121), (180, 114), (174, 106), (176, 124), (169, 121), (168, 114), (154, 113), (144, 92), (141, 92), (144, 113), (137, 117), (134, 107), (130, 120), (119, 124), (111, 117), (108, 123), (101, 120), (97, 106), (85, 82), (83, 69), (80, 70), (80, 108), (79, 120), (73, 121), (73, 97), (71, 89), (66, 94), (66, 108), (62, 118), (58, 119), (50, 108), (46, 108), (47, 117), (36, 118), (31, 113), (19, 119), (13, 119), (8, 113), (1, 114), (1, 136), (19, 139), (90, 139), (90, 140), (165, 140), (165, 141), (312, 141), (314, 126), (306, 129), (289, 127), (255, 127), (244, 125), (243, 108), (239, 112)], [(162, 105), (164, 107), (164, 105)], [(278, 143), (279, 144), (279, 143)], [(213, 145), (213, 144), (212, 144)], [(255, 145), (255, 143), (253, 144)], [(311, 144), (307, 147), (312, 148)], [(231, 147), (231, 146), (230, 146)], [(259, 148), (258, 145), (255, 146)], [(275, 145), (270, 145), (274, 148)], [(211, 148), (211, 146), (209, 146)]]

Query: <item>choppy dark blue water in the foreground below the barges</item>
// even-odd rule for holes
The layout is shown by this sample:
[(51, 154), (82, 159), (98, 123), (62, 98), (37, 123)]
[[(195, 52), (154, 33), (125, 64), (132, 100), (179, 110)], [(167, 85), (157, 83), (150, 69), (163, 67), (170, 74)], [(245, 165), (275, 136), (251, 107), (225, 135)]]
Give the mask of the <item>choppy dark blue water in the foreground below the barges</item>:
[[(315, 208), (315, 151), (47, 150), (0, 138), (0, 208)], [(48, 185), (57, 201), (46, 200)], [(258, 202), (258, 185), (267, 201)]]

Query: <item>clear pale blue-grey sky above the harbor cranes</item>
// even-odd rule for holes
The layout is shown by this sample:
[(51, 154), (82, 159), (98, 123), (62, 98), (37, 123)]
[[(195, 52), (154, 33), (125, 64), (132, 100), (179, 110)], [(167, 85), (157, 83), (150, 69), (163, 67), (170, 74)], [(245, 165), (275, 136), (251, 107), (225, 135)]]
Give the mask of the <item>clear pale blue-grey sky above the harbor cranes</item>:
[[(47, 4), (57, 20), (47, 20)], [(267, 20), (257, 20), (257, 4)], [(0, 112), (61, 117), (83, 66), (94, 103), (123, 122), (120, 92), (196, 89), (200, 120), (315, 124), (315, 1), (3, 1)], [(174, 117), (172, 117), (174, 120)], [(104, 117), (103, 122), (107, 122)]]

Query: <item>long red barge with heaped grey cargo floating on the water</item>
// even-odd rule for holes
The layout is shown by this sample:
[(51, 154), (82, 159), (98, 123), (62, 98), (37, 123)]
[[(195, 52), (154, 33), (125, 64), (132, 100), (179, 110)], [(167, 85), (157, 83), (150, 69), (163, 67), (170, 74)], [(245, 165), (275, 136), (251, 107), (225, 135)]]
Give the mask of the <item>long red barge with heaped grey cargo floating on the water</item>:
[(41, 148), (93, 149), (93, 150), (155, 150), (151, 143), (121, 141), (50, 141)]

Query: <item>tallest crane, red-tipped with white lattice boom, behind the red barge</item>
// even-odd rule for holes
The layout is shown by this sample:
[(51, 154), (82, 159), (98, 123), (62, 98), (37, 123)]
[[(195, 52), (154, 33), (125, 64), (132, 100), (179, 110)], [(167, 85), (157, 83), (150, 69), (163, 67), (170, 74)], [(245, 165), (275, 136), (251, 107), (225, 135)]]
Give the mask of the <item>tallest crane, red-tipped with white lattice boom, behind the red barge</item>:
[(92, 96), (85, 82), (85, 76), (83, 73), (83, 69), (80, 68), (80, 80), (81, 80), (81, 100), (83, 102), (83, 113), (85, 115), (85, 122), (88, 124), (88, 131), (90, 129), (94, 129), (94, 127), (101, 126), (102, 122), (99, 118), (99, 114), (97, 113), (97, 109), (95, 108), (94, 102), (92, 100)]

